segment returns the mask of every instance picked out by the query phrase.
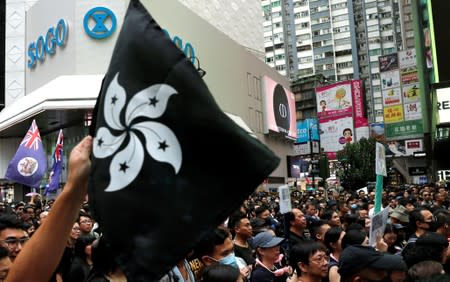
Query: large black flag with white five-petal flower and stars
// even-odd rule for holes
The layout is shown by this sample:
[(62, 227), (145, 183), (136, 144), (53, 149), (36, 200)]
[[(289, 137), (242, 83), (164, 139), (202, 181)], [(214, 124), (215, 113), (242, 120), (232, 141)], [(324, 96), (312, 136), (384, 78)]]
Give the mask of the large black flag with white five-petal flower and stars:
[(279, 163), (137, 0), (96, 109), (90, 207), (129, 281), (160, 278)]

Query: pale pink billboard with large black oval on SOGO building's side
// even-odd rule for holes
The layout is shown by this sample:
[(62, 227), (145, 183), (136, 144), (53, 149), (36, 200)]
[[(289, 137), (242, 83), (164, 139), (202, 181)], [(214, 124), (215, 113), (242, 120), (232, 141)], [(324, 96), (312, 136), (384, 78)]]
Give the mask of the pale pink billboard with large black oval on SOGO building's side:
[(264, 132), (279, 132), (288, 139), (297, 139), (297, 114), (294, 93), (264, 76)]

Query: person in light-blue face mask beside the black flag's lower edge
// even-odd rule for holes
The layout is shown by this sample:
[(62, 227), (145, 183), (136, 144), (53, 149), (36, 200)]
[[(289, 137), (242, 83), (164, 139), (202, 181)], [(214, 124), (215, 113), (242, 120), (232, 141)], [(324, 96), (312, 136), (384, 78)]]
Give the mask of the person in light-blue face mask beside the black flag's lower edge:
[[(204, 236), (195, 247), (194, 255), (199, 258), (204, 267), (219, 263), (239, 269), (231, 234), (224, 228), (218, 227)], [(202, 269), (198, 272), (199, 275)], [(247, 267), (239, 270), (242, 277), (247, 277), (250, 273), (250, 268)]]

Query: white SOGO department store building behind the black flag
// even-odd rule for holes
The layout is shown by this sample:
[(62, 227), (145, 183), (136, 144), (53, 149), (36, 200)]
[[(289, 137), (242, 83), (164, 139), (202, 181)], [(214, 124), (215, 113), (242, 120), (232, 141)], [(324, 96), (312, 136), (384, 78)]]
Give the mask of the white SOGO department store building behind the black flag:
[[(249, 44), (232, 40), (179, 1), (141, 2), (178, 47), (186, 50), (190, 46), (187, 55), (195, 54), (198, 59), (195, 65), (206, 71), (204, 81), (221, 109), (251, 130), (282, 160), (292, 155), (293, 141), (267, 126), (267, 116), (274, 113), (267, 112), (265, 105), (265, 95), (270, 94), (266, 81), (289, 89), (287, 79), (250, 53), (248, 49), (253, 47)], [(126, 0), (6, 3), (7, 77), (5, 108), (0, 112), (0, 178), (5, 175), (8, 163), (33, 119), (39, 126), (49, 159), (59, 129), (64, 130), (66, 157), (87, 134), (127, 6)], [(105, 38), (92, 36), (96, 23), (91, 16), (99, 9), (108, 11), (103, 23), (108, 30)], [(47, 49), (45, 40), (52, 31), (56, 31), (58, 44)], [(12, 56), (14, 54), (17, 56)], [(12, 84), (15, 88), (8, 88)], [(291, 107), (291, 103), (286, 106)], [(293, 104), (292, 111), (295, 111)], [(295, 130), (289, 130), (289, 133), (295, 134)], [(287, 165), (281, 161), (268, 183), (276, 187), (285, 184), (286, 176)], [(14, 200), (21, 200), (21, 194), (26, 192), (5, 179), (0, 179), (0, 184), (8, 195), (17, 192), (12, 196)]]

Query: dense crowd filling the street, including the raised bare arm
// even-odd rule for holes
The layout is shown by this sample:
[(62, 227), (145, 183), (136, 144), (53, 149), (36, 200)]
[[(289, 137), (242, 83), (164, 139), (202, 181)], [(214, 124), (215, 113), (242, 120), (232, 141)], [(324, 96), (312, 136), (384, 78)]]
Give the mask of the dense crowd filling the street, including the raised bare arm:
[[(0, 281), (127, 281), (85, 201), (92, 139), (74, 148), (56, 201), (0, 203)], [(76, 185), (74, 185), (76, 183)], [(375, 192), (255, 192), (160, 281), (450, 281), (444, 186), (385, 187), (389, 219), (369, 246)]]

